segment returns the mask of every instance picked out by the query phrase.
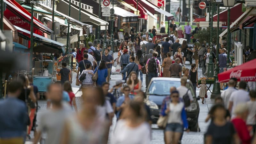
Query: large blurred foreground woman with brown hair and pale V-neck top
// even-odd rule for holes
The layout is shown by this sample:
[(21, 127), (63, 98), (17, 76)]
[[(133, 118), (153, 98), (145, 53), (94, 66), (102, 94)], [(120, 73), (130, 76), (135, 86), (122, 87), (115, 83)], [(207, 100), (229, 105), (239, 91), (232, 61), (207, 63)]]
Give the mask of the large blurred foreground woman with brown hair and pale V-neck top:
[(83, 105), (77, 115), (70, 116), (63, 129), (61, 144), (107, 144), (109, 123), (106, 119), (100, 119), (97, 115), (97, 105), (103, 94), (98, 88), (86, 88), (83, 95)]

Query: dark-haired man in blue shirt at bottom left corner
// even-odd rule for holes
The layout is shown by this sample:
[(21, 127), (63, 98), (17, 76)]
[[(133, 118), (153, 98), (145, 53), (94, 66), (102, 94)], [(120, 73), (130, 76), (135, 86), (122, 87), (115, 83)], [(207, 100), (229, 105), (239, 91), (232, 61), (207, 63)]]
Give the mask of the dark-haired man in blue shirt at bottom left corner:
[(24, 143), (29, 117), (26, 104), (17, 99), (22, 84), (13, 81), (8, 85), (8, 98), (0, 100), (0, 143)]

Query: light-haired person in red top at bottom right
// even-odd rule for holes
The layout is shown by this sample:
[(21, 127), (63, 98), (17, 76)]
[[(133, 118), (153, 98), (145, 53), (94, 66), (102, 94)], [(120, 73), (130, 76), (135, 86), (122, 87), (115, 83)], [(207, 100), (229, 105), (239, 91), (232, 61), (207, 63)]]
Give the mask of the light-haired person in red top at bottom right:
[(231, 120), (242, 144), (250, 144), (252, 140), (245, 123), (248, 113), (248, 106), (245, 103), (238, 104), (235, 108), (236, 117)]

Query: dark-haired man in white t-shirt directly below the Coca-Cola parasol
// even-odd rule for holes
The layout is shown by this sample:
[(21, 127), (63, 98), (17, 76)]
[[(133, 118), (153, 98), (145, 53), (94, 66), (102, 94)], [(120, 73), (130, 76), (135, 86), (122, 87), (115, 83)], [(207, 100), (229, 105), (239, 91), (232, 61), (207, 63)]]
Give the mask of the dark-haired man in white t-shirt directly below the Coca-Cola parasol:
[(246, 82), (240, 81), (239, 90), (233, 92), (230, 96), (228, 110), (231, 114), (231, 118), (234, 118), (236, 116), (234, 110), (238, 104), (246, 103), (250, 100), (249, 92), (245, 91), (246, 86)]

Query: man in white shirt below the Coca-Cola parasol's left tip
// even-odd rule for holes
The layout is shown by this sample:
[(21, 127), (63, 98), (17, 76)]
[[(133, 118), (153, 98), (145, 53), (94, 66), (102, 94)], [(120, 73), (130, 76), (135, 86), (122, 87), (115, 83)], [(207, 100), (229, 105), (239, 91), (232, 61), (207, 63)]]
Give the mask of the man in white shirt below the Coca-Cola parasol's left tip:
[(228, 108), (228, 104), (229, 104), (229, 99), (230, 96), (233, 92), (236, 92), (237, 90), (234, 88), (236, 82), (233, 79), (230, 79), (228, 81), (228, 89), (226, 89), (225, 91), (223, 91), (221, 93), (221, 98), (223, 99), (224, 102), (224, 106), (225, 108)]

